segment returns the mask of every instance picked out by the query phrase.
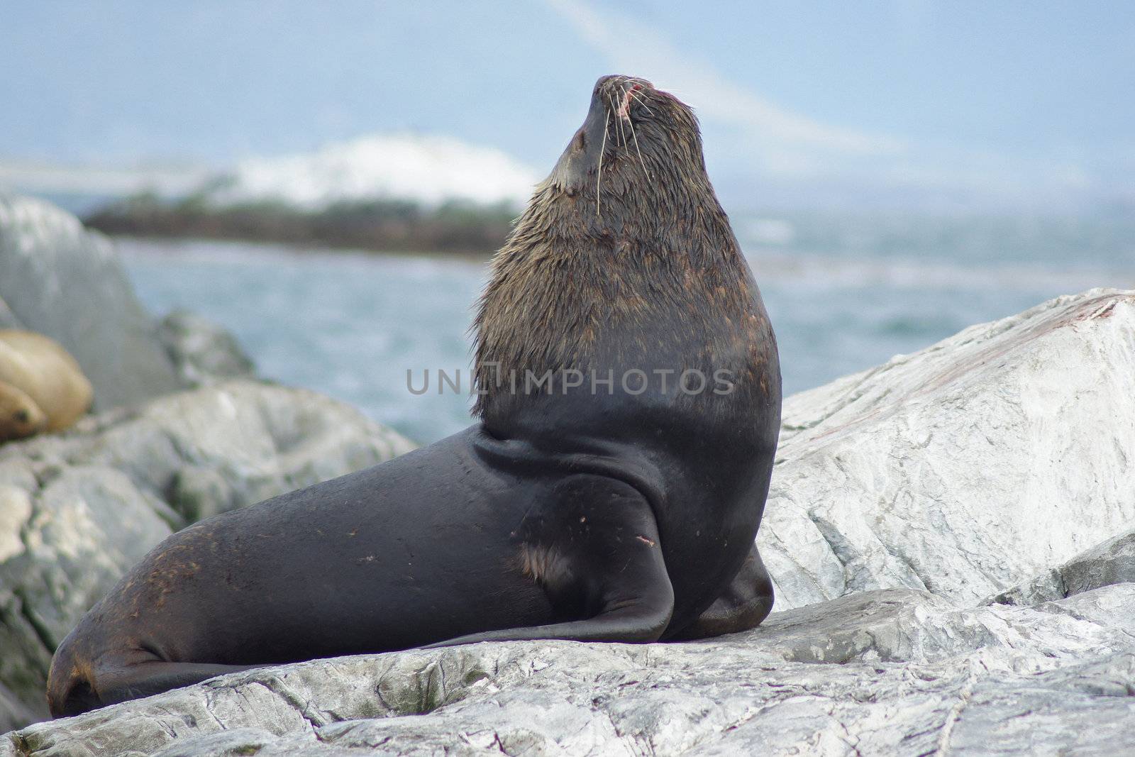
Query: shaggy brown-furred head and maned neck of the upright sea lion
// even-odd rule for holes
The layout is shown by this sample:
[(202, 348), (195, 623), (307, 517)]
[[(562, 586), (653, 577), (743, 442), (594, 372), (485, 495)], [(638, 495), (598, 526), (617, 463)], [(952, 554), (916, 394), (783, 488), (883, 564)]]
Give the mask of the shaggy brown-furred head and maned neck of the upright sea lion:
[[(689, 106), (604, 76), (583, 125), (493, 261), (478, 308), (474, 413), (526, 402), (526, 371), (684, 370), (748, 338), (753, 280), (714, 194)], [(527, 396), (527, 395), (526, 395)]]

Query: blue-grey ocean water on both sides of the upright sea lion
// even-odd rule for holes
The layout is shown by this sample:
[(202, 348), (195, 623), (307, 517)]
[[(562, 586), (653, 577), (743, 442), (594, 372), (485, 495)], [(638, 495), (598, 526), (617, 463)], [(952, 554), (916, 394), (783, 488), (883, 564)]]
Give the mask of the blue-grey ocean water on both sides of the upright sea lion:
[[(1135, 288), (1135, 220), (734, 218), (768, 308), (785, 394), (973, 323), (1098, 286)], [(142, 301), (220, 322), (260, 372), (419, 443), (469, 424), (469, 326), (486, 262), (279, 245), (119, 239)], [(430, 390), (415, 395), (430, 371)]]

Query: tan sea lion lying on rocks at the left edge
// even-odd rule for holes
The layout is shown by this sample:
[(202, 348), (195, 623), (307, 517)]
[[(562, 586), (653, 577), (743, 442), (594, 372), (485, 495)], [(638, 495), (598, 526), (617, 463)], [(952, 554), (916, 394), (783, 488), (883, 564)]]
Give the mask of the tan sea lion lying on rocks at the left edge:
[(0, 441), (60, 431), (91, 406), (75, 359), (42, 334), (0, 330)]

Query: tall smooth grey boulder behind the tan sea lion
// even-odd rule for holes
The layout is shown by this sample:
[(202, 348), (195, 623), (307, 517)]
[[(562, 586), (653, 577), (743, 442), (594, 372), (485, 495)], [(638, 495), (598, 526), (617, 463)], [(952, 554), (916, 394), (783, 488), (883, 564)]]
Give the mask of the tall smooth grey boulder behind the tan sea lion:
[(0, 325), (59, 342), (106, 410), (182, 388), (110, 243), (40, 200), (0, 194)]

